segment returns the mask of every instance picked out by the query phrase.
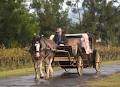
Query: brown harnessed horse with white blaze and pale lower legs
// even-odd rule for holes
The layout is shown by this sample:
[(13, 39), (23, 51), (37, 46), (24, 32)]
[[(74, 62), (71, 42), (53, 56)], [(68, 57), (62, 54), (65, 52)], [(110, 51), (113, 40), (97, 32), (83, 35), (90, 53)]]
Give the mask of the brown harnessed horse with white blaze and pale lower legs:
[(36, 37), (33, 38), (32, 46), (30, 49), (30, 53), (32, 55), (34, 69), (35, 69), (35, 79), (43, 78), (43, 70), (42, 65), (45, 63), (45, 78), (49, 79), (49, 77), (53, 76), (52, 69), (52, 61), (54, 57), (54, 50), (56, 49), (56, 44), (54, 41), (49, 40), (45, 37)]

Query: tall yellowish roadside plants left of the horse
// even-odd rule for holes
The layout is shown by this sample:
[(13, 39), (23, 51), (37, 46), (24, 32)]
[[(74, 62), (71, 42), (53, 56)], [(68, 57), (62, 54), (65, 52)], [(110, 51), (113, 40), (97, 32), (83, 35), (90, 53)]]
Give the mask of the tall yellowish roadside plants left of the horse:
[(0, 70), (32, 66), (29, 52), (21, 48), (0, 49)]

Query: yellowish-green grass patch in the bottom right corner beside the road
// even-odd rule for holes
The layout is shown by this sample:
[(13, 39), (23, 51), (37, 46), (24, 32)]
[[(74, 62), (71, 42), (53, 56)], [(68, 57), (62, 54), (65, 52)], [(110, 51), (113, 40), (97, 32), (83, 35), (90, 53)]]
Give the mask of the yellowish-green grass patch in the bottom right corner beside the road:
[(87, 82), (89, 87), (120, 87), (120, 73)]

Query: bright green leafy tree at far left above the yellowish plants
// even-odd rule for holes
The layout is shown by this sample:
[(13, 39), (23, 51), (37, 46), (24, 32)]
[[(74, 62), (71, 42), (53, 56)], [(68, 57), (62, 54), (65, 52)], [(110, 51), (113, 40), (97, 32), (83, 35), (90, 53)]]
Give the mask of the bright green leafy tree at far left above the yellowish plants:
[(6, 47), (25, 45), (37, 30), (37, 23), (24, 0), (0, 0), (0, 43)]

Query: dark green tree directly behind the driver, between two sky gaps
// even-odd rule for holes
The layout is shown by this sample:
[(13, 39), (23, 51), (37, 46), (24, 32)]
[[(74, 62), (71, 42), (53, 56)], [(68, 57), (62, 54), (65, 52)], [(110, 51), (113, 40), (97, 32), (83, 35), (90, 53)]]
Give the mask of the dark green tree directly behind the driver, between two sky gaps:
[(41, 34), (49, 36), (57, 27), (67, 28), (67, 11), (62, 10), (64, 0), (33, 0), (32, 8), (37, 14)]

